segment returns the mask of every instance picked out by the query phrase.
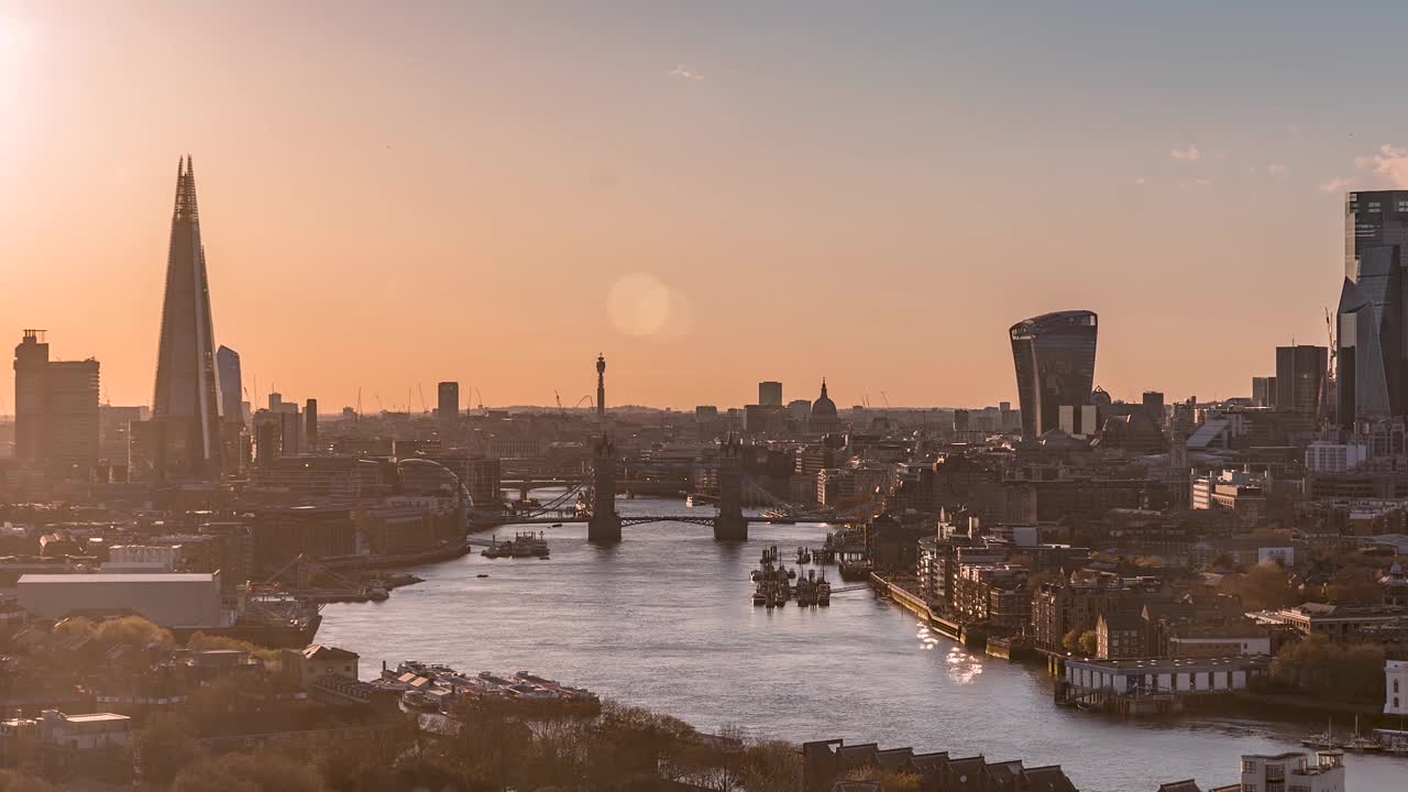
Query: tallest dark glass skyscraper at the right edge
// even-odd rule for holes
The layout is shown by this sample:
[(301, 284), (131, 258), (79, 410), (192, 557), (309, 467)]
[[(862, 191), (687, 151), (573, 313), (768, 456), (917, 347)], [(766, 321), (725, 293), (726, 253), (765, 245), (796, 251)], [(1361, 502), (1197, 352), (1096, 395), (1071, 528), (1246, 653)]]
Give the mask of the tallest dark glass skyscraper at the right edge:
[(1345, 194), (1339, 296), (1339, 423), (1402, 416), (1408, 386), (1408, 190)]

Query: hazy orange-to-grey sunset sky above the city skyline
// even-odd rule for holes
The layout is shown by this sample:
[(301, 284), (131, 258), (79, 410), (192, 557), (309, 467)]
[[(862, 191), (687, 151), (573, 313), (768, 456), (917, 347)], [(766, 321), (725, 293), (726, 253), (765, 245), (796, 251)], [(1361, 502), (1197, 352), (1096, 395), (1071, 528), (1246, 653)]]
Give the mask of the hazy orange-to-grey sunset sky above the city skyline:
[[(103, 361), (114, 404), (149, 399), (155, 328), (139, 317), (159, 311), (163, 175), (186, 151), (203, 162), (215, 341), (241, 351), (262, 392), (317, 395), (337, 410), (360, 389), (369, 412), (376, 396), (406, 407), (408, 389), (446, 379), (466, 403), (479, 402), (472, 389), (486, 404), (551, 404), (553, 390), (576, 402), (591, 393), (598, 351), (618, 404), (745, 404), (758, 380), (810, 392), (824, 375), (842, 404), (881, 393), (910, 406), (1015, 402), (1005, 328), (1070, 306), (1105, 320), (1095, 383), (1117, 397), (1246, 396), (1269, 349), (1326, 342), (1342, 192), (1408, 175), (1404, 111), (1339, 87), (1374, 65), (1373, 47), (1338, 63), (1350, 44), (1328, 37), (1309, 63), (1326, 85), (1300, 93), (1271, 73), (1316, 25), (1340, 24), (1314, 10), (1259, 39), (1266, 73), (1226, 86), (1190, 66), (1188, 85), (1150, 83), (1142, 101), (1169, 104), (1153, 128), (1112, 125), (1111, 100), (1131, 86), (1070, 51), (1094, 38), (1107, 54), (1167, 63), (1173, 44), (1155, 31), (1193, 35), (1207, 7), (1059, 27), (1000, 65), (949, 41), (1004, 21), (981, 10), (679, 20), (610, 7), (559, 27), (491, 6), (394, 20), (356, 6), (304, 51), (303, 37), (259, 32), (255, 11), (153, 4), (144, 20), (70, 20), (62, 7), (0, 11), (0, 111), (30, 118), (0, 151), (4, 182), (28, 185), (23, 197), (0, 190), (0, 255), (20, 262), (0, 313)], [(290, 31), (322, 20), (317, 4), (284, 13)], [(659, 25), (656, 45), (603, 56), (646, 23)], [(1247, 10), (1218, 23), (1195, 39), (1211, 63), (1267, 24)], [(356, 59), (379, 24), (396, 42), (376, 63)], [(122, 35), (100, 34), (108, 25)], [(179, 35), (191, 25), (220, 31), (215, 52)], [(846, 25), (869, 35), (824, 56)], [(880, 44), (891, 58), (876, 59)], [(1042, 76), (1033, 59), (1052, 47), (1067, 59)], [(238, 82), (220, 68), (255, 52)], [(280, 82), (304, 56), (314, 66)], [(172, 73), (172, 61), (183, 68)], [(108, 62), (122, 66), (94, 69)], [(1091, 96), (1052, 107), (1036, 92), (1053, 79)], [(180, 101), (153, 90), (166, 80)], [(308, 90), (327, 99), (318, 118), (300, 114)], [(441, 107), (446, 90), (463, 107)], [(1007, 110), (980, 104), (983, 92)], [(1264, 101), (1233, 107), (1249, 94)], [(122, 103), (100, 145), (79, 134)], [(836, 103), (870, 121), (819, 124)], [(776, 156), (769, 141), (803, 132)], [(1060, 155), (1028, 151), (1038, 141)], [(1015, 186), (1021, 210), (1004, 206)], [(1245, 299), (1257, 290), (1274, 299)], [(525, 293), (556, 299), (522, 310)], [(1208, 359), (1187, 304), (1225, 314), (1219, 333), (1242, 342)], [(856, 311), (863, 323), (826, 320)], [(921, 324), (929, 340), (894, 348)], [(408, 328), (435, 342), (408, 344)], [(714, 375), (724, 368), (738, 376)], [(13, 392), (8, 376), (0, 393)], [(8, 400), (0, 413), (13, 413)]]

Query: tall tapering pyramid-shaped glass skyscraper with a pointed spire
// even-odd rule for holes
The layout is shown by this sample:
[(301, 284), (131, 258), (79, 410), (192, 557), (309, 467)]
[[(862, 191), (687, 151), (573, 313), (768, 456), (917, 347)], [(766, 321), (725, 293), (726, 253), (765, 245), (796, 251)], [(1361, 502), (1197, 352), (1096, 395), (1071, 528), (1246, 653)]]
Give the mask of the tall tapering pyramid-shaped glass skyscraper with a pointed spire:
[(166, 258), (156, 395), (152, 397), (153, 441), (158, 444), (155, 462), (161, 478), (208, 481), (220, 476), (217, 395), (206, 248), (200, 241), (196, 173), (190, 156), (186, 156), (176, 171), (176, 209)]

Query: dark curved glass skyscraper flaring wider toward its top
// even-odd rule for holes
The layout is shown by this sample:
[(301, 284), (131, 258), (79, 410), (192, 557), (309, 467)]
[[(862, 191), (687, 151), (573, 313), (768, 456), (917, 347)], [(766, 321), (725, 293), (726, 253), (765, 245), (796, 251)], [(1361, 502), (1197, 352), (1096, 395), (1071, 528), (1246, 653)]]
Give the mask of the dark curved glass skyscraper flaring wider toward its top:
[(1060, 427), (1063, 406), (1090, 403), (1097, 330), (1094, 311), (1048, 313), (1012, 326), (1024, 440), (1036, 440)]

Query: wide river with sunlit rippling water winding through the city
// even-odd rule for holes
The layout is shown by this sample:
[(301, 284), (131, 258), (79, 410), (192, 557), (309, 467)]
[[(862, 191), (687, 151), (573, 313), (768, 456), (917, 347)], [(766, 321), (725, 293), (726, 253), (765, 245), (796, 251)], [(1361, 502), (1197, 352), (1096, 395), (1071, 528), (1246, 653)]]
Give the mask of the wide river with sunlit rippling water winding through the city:
[[(711, 513), (662, 499), (618, 509)], [(791, 565), (797, 545), (821, 544), (824, 526), (753, 524), (746, 545), (684, 523), (627, 527), (614, 547), (589, 544), (586, 530), (546, 528), (551, 561), (473, 554), (417, 568), (425, 582), (386, 602), (327, 606), (317, 640), (359, 652), (365, 678), (401, 660), (528, 669), (705, 731), (738, 724), (797, 743), (843, 737), (1060, 764), (1091, 792), (1153, 792), (1190, 776), (1204, 788), (1233, 784), (1240, 754), (1301, 750), (1298, 740), (1325, 726), (1136, 722), (1057, 707), (1042, 668), (931, 636), (866, 590), (838, 593), (825, 609), (753, 607), (748, 574), (762, 550), (779, 545)], [(841, 585), (835, 569), (831, 578)], [(1408, 758), (1349, 755), (1346, 765), (1349, 789), (1408, 789)]]

